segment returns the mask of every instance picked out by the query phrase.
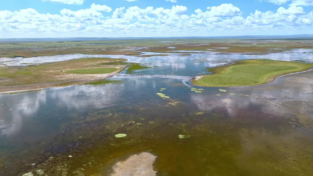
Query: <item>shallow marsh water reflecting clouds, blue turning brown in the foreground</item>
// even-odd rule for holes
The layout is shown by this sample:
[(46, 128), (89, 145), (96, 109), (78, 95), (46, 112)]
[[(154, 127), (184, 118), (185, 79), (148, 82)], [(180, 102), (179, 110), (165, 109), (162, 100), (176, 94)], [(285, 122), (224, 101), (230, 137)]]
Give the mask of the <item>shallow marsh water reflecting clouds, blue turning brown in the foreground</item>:
[(312, 175), (312, 70), (251, 87), (198, 87), (188, 78), (240, 59), (312, 62), (303, 52), (109, 55), (152, 68), (107, 84), (0, 95), (0, 175), (106, 176), (142, 152), (156, 157), (160, 176)]

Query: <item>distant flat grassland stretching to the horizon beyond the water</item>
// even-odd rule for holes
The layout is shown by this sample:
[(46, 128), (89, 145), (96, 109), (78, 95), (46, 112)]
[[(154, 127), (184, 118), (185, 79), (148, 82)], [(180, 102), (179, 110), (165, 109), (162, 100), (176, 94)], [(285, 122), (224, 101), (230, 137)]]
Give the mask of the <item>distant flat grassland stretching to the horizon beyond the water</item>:
[[(119, 39), (97, 41), (0, 42), (0, 58), (33, 57), (59, 54), (122, 54), (175, 52), (177, 50), (225, 53), (267, 54), (290, 49), (312, 49), (312, 38), (272, 40), (257, 38), (205, 39)], [(138, 47), (138, 48), (137, 48)], [(145, 47), (145, 48), (141, 48)], [(168, 48), (172, 47), (172, 48)], [(136, 49), (137, 48), (137, 49)], [(279, 49), (279, 50), (273, 50)], [(140, 56), (148, 57), (148, 56)]]

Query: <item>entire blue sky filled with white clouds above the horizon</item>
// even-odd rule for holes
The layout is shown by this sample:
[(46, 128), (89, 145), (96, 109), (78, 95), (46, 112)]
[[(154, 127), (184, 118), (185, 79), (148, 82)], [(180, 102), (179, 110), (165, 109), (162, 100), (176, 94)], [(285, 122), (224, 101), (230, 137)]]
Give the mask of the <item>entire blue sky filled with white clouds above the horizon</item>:
[(1, 0), (0, 38), (313, 34), (313, 0)]

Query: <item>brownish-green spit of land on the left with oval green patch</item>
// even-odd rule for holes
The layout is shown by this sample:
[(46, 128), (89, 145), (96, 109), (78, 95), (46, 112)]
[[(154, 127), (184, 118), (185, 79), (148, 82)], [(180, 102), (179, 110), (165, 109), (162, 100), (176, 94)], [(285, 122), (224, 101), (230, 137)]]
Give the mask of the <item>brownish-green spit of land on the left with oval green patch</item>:
[[(67, 86), (104, 80), (127, 68), (128, 63), (123, 63), (123, 61), (126, 59), (85, 58), (42, 65), (0, 67), (0, 92)], [(88, 74), (66, 73), (73, 70), (81, 71), (81, 69), (88, 71), (91, 69), (93, 72), (88, 72)]]

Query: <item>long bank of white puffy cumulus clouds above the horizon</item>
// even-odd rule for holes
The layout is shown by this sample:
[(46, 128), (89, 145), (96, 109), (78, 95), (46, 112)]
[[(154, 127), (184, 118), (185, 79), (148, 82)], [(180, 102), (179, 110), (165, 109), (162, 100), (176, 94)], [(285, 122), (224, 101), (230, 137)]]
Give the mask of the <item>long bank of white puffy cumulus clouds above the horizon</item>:
[[(200, 8), (188, 15), (186, 6), (172, 8), (138, 6), (115, 8), (91, 4), (90, 8), (73, 11), (62, 9), (57, 14), (38, 13), (33, 8), (0, 11), (0, 37), (73, 36), (165, 36), (220, 35), (221, 32), (251, 34), (285, 28), (312, 31), (313, 12), (299, 6), (280, 7), (275, 12), (255, 10), (248, 17), (233, 4)], [(247, 12), (246, 12), (247, 13)], [(290, 31), (288, 30), (288, 31)], [(27, 35), (26, 35), (27, 34)], [(266, 33), (267, 34), (267, 33)], [(279, 33), (280, 34), (280, 33)]]

